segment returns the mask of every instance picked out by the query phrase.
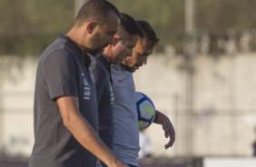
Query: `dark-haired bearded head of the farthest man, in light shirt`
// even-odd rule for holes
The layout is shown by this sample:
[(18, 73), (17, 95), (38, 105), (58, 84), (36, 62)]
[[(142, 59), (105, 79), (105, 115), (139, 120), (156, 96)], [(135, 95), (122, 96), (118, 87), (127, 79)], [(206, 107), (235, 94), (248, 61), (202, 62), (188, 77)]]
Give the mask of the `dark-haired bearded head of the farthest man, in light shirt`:
[(141, 20), (137, 21), (137, 23), (143, 31), (143, 36), (139, 38), (133, 48), (133, 56), (126, 57), (122, 63), (126, 70), (132, 73), (147, 63), (148, 56), (153, 53), (153, 48), (159, 41), (149, 23)]

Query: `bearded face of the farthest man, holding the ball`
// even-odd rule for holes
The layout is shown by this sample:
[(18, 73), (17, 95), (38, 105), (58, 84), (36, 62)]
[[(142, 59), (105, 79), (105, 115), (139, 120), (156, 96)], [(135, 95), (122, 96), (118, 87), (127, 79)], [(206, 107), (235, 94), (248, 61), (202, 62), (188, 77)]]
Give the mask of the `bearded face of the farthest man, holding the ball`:
[(123, 65), (129, 72), (135, 72), (143, 64), (147, 64), (147, 58), (153, 53), (153, 44), (147, 39), (139, 39), (133, 48), (133, 55), (126, 57)]

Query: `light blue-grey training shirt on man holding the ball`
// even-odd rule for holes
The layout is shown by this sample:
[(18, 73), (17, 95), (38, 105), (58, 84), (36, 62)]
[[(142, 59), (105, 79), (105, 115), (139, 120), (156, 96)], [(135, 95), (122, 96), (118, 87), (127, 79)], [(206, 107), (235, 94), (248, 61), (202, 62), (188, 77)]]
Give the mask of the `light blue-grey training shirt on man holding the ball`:
[(133, 74), (112, 65), (113, 76), (113, 152), (125, 163), (138, 166), (139, 126)]

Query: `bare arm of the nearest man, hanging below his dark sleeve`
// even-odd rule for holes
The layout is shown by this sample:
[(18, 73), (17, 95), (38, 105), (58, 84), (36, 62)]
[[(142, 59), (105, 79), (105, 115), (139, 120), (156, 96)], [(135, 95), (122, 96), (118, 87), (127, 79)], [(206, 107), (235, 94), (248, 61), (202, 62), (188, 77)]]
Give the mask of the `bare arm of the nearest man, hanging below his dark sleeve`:
[(72, 96), (57, 98), (57, 103), (62, 115), (65, 127), (74, 135), (86, 150), (92, 152), (105, 164), (111, 167), (125, 167), (100, 140), (92, 126), (79, 112), (78, 99)]

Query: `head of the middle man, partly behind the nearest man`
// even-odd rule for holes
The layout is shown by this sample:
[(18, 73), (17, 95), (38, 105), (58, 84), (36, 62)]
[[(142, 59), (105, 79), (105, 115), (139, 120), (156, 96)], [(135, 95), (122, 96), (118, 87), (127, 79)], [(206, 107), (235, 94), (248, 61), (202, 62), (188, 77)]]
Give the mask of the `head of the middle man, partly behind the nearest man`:
[(103, 54), (110, 57), (111, 64), (121, 64), (123, 59), (133, 54), (138, 36), (142, 36), (140, 26), (127, 14), (121, 14), (121, 21), (116, 34), (113, 37), (113, 44), (105, 47)]

